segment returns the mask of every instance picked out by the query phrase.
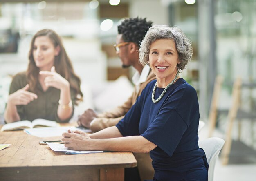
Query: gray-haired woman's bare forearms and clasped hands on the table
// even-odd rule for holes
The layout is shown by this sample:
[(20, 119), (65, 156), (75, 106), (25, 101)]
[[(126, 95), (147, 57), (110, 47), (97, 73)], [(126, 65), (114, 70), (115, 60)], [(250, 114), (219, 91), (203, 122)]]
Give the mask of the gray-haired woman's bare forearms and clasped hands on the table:
[(143, 136), (123, 137), (117, 127), (108, 127), (95, 134), (85, 132), (64, 132), (61, 139), (65, 147), (72, 150), (103, 150), (117, 152), (145, 153), (153, 150), (157, 145)]

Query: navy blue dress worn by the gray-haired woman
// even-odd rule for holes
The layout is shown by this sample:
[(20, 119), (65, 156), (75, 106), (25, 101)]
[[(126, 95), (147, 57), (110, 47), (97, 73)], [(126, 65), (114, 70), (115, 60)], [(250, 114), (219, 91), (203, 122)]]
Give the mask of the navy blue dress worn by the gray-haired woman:
[[(207, 181), (208, 163), (198, 148), (199, 105), (195, 89), (183, 78), (153, 103), (156, 80), (116, 125), (123, 136), (141, 135), (157, 147), (150, 151), (155, 181)], [(157, 88), (155, 99), (163, 92)]]

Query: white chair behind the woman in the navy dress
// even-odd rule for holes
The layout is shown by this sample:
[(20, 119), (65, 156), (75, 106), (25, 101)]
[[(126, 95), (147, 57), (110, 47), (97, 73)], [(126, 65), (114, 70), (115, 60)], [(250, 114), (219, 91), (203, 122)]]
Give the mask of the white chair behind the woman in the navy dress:
[(213, 181), (215, 163), (224, 143), (223, 139), (216, 137), (207, 138), (198, 143), (198, 146), (204, 150), (209, 164), (208, 181)]

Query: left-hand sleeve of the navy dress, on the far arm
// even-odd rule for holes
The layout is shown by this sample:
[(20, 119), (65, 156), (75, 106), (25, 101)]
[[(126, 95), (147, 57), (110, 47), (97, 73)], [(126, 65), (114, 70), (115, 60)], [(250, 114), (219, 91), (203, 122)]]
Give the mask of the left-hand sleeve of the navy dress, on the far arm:
[(139, 135), (139, 120), (141, 116), (141, 96), (136, 103), (126, 113), (123, 119), (117, 123), (116, 127), (123, 136)]

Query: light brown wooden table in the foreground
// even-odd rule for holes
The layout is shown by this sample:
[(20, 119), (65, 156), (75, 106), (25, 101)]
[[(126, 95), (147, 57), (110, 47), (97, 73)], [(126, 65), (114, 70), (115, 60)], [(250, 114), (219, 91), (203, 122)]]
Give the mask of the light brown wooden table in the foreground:
[(0, 180), (122, 181), (124, 168), (137, 166), (131, 152), (70, 155), (39, 145), (42, 140), (23, 131), (0, 132), (0, 144), (11, 144), (0, 150)]

